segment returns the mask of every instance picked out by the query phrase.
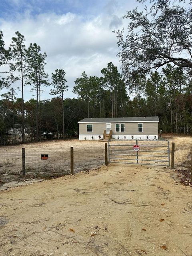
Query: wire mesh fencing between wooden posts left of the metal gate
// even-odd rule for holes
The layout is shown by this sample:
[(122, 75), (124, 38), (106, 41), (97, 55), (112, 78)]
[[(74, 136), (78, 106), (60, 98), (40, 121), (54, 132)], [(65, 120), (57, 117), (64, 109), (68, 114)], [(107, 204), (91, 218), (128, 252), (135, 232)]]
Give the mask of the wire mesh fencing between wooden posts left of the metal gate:
[[(48, 159), (42, 159), (42, 155)], [(74, 173), (96, 169), (105, 163), (104, 143), (98, 147), (74, 147)], [(48, 179), (70, 174), (70, 147), (25, 148), (27, 178)], [(0, 148), (0, 182), (10, 182), (22, 177), (22, 148)]]

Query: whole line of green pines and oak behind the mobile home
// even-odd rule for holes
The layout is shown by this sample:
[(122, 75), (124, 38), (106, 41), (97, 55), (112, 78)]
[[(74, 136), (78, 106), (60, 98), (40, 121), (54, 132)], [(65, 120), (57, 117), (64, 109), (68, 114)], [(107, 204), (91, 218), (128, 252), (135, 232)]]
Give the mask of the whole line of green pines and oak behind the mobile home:
[[(159, 116), (159, 130), (192, 134), (191, 8), (151, 2), (150, 12), (132, 10), (124, 16), (130, 19), (126, 37), (124, 30), (115, 31), (122, 73), (112, 62), (100, 76), (82, 72), (74, 81), (77, 98), (64, 98), (64, 70), (56, 69), (48, 78), (40, 46), (26, 48), (24, 36), (16, 32), (6, 49), (0, 32), (0, 67), (5, 73), (0, 89), (8, 90), (0, 99), (0, 144), (75, 137), (78, 121), (86, 117)], [(18, 84), (22, 98), (16, 96)], [(35, 91), (35, 99), (24, 102), (25, 86)], [(55, 97), (41, 100), (43, 90)]]

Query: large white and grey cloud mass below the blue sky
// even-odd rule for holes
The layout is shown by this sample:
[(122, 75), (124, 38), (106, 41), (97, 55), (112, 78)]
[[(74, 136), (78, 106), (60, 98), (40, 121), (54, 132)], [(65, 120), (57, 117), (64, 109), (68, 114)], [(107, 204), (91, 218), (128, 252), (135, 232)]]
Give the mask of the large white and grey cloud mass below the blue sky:
[[(124, 21), (121, 16), (125, 14), (126, 7), (118, 9), (117, 6), (115, 1), (111, 1), (99, 15), (86, 17), (71, 12), (62, 15), (45, 13), (34, 17), (26, 12), (14, 21), (1, 19), (0, 26), (7, 47), (16, 31), (25, 36), (26, 47), (34, 42), (39, 44), (48, 56), (46, 72), (49, 79), (56, 68), (64, 69), (69, 86), (66, 97), (74, 97), (74, 80), (83, 71), (89, 76), (101, 76), (100, 70), (108, 62), (113, 62), (120, 70), (116, 57), (118, 46), (112, 29), (122, 27)], [(45, 88), (43, 99), (51, 98), (49, 89)], [(25, 100), (31, 97), (28, 92)]]

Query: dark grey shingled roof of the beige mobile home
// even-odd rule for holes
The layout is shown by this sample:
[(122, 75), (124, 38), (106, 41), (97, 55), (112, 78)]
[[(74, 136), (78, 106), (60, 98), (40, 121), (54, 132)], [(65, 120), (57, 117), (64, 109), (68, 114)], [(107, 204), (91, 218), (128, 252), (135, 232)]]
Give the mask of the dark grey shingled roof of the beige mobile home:
[(78, 123), (107, 123), (107, 122), (159, 122), (158, 116), (140, 117), (109, 117), (109, 118), (84, 118)]

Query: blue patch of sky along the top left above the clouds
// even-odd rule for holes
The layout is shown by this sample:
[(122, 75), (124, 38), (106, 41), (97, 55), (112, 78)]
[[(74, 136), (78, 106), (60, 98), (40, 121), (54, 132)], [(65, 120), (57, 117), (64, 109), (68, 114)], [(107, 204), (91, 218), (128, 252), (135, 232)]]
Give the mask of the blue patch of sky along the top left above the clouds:
[(0, 18), (15, 19), (18, 14), (30, 13), (36, 16), (42, 13), (54, 12), (65, 14), (97, 14), (108, 1), (102, 0), (1, 0)]

